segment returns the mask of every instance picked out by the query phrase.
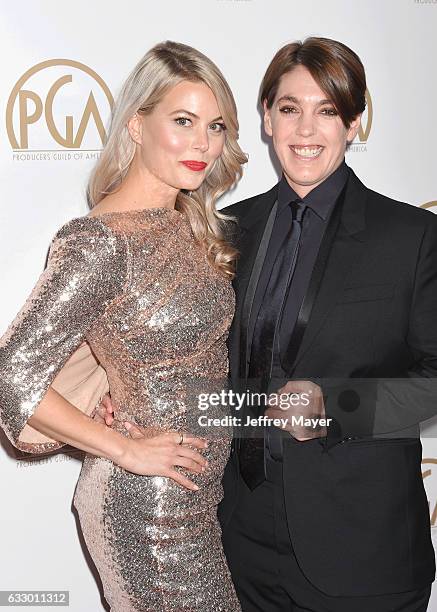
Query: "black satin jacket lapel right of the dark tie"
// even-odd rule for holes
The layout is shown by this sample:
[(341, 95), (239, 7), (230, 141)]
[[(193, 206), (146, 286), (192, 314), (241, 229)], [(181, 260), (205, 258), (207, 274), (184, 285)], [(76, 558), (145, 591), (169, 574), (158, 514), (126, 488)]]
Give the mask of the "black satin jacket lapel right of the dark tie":
[[(307, 324), (301, 342), (300, 339), (298, 340), (300, 346), (296, 357), (292, 360), (288, 359), (287, 351), (287, 371), (290, 377), (293, 375), (297, 364), (310, 349), (328, 314), (335, 306), (338, 295), (353, 272), (354, 265), (365, 246), (367, 188), (352, 170), (350, 172), (351, 176), (346, 186), (341, 218), (337, 223), (335, 232), (330, 236), (330, 225), (335, 223), (335, 211), (331, 216), (319, 249), (307, 295), (299, 313), (299, 316), (301, 316), (302, 309), (306, 308), (308, 310)], [(339, 201), (338, 204), (341, 204), (341, 202)], [(324, 258), (326, 258), (326, 261), (323, 261)], [(292, 347), (291, 343), (289, 350), (296, 354), (296, 347)]]

